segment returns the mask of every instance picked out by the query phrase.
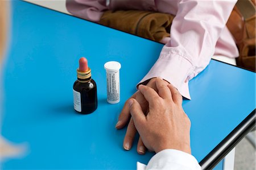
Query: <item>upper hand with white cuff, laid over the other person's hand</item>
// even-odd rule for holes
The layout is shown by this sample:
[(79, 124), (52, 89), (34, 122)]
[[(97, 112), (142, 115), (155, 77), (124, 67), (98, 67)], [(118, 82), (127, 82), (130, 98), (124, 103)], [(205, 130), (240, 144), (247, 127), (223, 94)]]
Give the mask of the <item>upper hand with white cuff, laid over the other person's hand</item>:
[(160, 152), (175, 149), (191, 154), (191, 122), (182, 108), (182, 97), (174, 86), (156, 79), (158, 93), (144, 85), (139, 86), (148, 102), (149, 111), (144, 115), (141, 105), (129, 99), (129, 108), (134, 125), (148, 150)]

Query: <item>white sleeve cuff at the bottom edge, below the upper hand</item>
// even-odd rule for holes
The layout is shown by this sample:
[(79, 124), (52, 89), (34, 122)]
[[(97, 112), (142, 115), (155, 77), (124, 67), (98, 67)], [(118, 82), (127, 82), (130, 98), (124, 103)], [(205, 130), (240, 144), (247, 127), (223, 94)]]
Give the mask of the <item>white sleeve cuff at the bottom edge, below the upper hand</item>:
[(196, 158), (183, 151), (167, 149), (154, 155), (146, 169), (201, 169)]

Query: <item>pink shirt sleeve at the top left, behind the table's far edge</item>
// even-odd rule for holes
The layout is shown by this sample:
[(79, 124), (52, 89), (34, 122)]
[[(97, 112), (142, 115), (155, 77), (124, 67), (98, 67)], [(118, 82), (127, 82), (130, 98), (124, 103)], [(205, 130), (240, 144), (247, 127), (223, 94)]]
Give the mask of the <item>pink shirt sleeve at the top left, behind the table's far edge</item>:
[(100, 21), (102, 13), (108, 9), (106, 0), (67, 0), (66, 7), (69, 13), (93, 22)]

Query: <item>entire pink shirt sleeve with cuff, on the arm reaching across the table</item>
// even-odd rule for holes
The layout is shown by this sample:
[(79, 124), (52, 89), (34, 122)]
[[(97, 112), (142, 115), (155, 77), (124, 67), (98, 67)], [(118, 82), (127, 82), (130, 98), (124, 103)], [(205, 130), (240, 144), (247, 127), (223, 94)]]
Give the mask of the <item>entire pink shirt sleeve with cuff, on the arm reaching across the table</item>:
[(235, 1), (183, 0), (171, 26), (171, 39), (142, 82), (162, 77), (191, 99), (188, 80), (199, 74), (214, 54)]

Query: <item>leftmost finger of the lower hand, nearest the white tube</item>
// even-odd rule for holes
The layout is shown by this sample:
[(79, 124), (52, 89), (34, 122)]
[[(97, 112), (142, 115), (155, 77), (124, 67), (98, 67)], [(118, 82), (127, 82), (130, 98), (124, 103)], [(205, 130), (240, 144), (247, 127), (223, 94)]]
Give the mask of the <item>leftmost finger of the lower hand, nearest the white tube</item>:
[(131, 118), (128, 101), (129, 100), (125, 102), (125, 105), (123, 106), (123, 109), (119, 114), (117, 125), (115, 125), (115, 128), (117, 129), (125, 127), (126, 123)]

